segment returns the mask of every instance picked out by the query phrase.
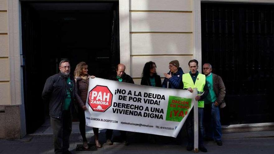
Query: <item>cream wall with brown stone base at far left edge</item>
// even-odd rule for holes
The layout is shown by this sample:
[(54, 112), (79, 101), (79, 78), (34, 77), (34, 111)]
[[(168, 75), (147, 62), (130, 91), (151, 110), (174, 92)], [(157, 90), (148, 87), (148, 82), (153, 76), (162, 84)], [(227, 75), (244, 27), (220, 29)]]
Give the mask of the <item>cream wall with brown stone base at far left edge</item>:
[(4, 111), (0, 115), (0, 138), (7, 139), (20, 139), (26, 135), (21, 97), (19, 3), (19, 0), (0, 0), (0, 110)]

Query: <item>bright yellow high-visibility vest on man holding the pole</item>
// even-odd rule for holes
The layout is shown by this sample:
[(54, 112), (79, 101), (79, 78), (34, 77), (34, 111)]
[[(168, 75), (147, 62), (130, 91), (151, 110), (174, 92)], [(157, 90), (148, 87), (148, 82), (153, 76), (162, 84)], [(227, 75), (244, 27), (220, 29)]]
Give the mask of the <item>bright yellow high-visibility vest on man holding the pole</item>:
[[(182, 81), (184, 84), (184, 89), (187, 89), (189, 87), (197, 88), (198, 89), (198, 95), (202, 95), (204, 92), (204, 86), (205, 86), (205, 75), (204, 74), (198, 74), (195, 84), (193, 83), (193, 80), (189, 73), (183, 74)], [(198, 107), (204, 107), (204, 100), (198, 101)]]

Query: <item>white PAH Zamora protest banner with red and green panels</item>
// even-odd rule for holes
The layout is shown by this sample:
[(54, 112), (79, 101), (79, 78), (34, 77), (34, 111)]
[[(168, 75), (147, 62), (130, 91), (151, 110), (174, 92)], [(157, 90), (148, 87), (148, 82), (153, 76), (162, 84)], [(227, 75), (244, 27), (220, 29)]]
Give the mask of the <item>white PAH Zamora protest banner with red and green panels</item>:
[(187, 90), (90, 79), (86, 125), (176, 137), (197, 103), (196, 95)]

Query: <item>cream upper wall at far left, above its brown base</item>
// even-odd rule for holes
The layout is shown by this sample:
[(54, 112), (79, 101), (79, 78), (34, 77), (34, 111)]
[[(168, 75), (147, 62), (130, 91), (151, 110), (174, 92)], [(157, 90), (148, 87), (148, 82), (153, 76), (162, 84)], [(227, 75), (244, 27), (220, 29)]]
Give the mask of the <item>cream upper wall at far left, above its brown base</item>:
[(0, 0), (0, 105), (20, 105), (20, 7), (18, 0)]

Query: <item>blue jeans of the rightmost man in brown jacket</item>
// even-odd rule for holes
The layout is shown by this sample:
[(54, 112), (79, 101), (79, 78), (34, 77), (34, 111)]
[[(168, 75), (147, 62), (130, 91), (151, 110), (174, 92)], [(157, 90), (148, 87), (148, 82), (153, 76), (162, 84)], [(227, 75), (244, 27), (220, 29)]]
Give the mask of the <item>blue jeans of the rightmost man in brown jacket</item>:
[(215, 141), (222, 140), (222, 127), (220, 122), (220, 107), (212, 104), (205, 104), (205, 135)]

